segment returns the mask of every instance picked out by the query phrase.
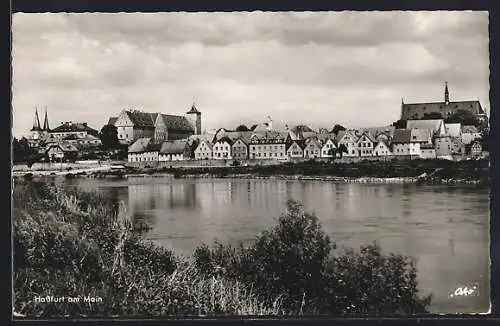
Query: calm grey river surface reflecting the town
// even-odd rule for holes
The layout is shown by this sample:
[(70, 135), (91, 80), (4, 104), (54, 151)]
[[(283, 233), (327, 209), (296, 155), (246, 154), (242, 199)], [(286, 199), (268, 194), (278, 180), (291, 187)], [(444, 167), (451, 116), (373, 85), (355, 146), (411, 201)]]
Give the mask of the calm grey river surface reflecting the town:
[[(153, 226), (145, 237), (190, 255), (202, 242), (250, 241), (275, 224), (289, 198), (320, 218), (339, 247), (378, 241), (386, 253), (416, 259), (419, 284), (437, 313), (489, 310), (489, 189), (477, 186), (343, 184), (321, 181), (71, 179), (123, 201)], [(477, 283), (479, 295), (450, 298)]]

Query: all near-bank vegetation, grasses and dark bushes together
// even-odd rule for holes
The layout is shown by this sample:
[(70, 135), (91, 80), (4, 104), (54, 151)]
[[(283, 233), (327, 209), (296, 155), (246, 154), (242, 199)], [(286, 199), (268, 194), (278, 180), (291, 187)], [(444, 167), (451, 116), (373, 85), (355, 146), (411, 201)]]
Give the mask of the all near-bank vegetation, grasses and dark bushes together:
[(251, 244), (185, 257), (145, 240), (110, 197), (16, 180), (13, 253), (13, 310), (26, 317), (416, 314), (432, 298), (411, 258), (337, 249), (294, 201)]

